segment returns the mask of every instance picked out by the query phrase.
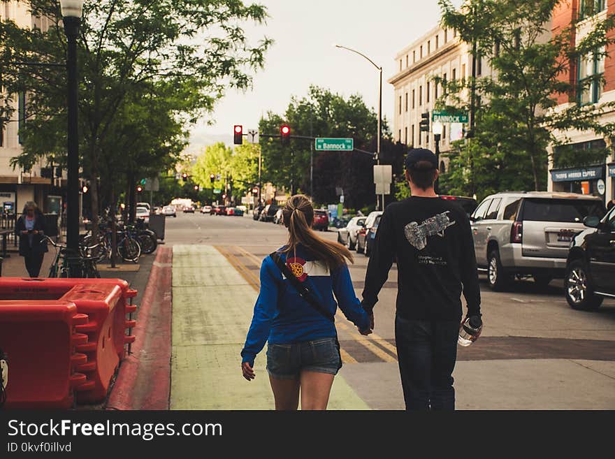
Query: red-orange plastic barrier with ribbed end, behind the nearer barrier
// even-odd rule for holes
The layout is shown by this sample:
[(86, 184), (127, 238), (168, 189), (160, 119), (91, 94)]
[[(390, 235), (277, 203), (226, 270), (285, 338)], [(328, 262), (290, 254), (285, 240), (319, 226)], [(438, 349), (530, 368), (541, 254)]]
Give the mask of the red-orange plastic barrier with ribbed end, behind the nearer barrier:
[[(17, 300), (22, 305), (31, 304), (33, 300), (45, 300), (51, 305), (68, 303), (85, 317), (83, 323), (75, 325), (75, 333), (85, 340), (73, 343), (75, 353), (82, 356), (74, 365), (81, 378), (81, 384), (78, 388), (75, 386), (78, 402), (105, 400), (110, 381), (126, 356), (126, 345), (134, 341), (132, 335), (126, 334), (126, 328), (136, 326), (136, 321), (126, 318), (126, 314), (136, 311), (136, 305), (130, 304), (136, 294), (137, 291), (130, 289), (122, 279), (0, 278), (0, 300), (13, 300), (13, 303)], [(0, 333), (3, 349), (8, 347), (4, 341)], [(37, 348), (45, 347), (46, 340), (37, 338), (35, 344)], [(13, 375), (13, 359), (10, 355), (9, 358)], [(45, 385), (43, 381), (44, 375), (38, 378), (38, 386)]]

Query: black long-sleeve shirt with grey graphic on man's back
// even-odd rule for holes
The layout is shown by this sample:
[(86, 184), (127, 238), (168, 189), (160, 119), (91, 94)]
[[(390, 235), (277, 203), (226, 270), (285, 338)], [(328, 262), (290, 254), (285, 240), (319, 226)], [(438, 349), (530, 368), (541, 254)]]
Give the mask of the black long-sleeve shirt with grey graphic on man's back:
[(397, 314), (405, 319), (461, 320), (480, 314), (480, 289), (470, 221), (451, 201), (412, 196), (391, 203), (378, 225), (363, 289), (369, 312), (396, 258)]

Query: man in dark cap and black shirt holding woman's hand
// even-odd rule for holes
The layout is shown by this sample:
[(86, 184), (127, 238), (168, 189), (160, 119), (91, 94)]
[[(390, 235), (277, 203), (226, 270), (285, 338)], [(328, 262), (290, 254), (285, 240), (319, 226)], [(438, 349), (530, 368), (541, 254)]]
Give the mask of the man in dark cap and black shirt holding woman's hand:
[(437, 158), (413, 149), (405, 159), (412, 196), (382, 214), (368, 263), (363, 307), (372, 314), (393, 263), (398, 267), (395, 339), (406, 409), (455, 409), (461, 291), (480, 322), (474, 242), (465, 210), (438, 198)]

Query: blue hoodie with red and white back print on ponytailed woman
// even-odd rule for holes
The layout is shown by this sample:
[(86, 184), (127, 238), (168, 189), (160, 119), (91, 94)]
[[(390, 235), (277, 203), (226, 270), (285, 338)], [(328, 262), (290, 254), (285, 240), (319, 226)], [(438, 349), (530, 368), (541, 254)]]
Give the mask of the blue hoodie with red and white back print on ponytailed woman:
[[(284, 248), (278, 249), (278, 252)], [(335, 314), (339, 303), (349, 321), (360, 330), (369, 328), (369, 316), (361, 307), (359, 298), (356, 298), (346, 264), (329, 272), (326, 263), (315, 260), (301, 245), (296, 247), (296, 254), (291, 252), (287, 256), (280, 253), (280, 258), (290, 265), (300, 282), (309, 283), (320, 304), (331, 314)], [(261, 291), (241, 351), (242, 362), (254, 366), (254, 358), (265, 342), (291, 344), (335, 336), (335, 324), (301, 298), (273, 259), (267, 256), (261, 264)]]

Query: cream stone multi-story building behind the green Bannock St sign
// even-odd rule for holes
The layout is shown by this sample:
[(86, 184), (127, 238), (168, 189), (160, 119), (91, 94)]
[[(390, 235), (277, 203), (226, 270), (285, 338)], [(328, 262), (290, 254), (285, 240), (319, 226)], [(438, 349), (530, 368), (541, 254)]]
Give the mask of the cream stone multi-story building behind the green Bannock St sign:
[[(393, 138), (409, 147), (425, 147), (435, 150), (433, 133), (421, 132), (421, 114), (431, 112), (438, 97), (442, 96), (442, 80), (458, 80), (472, 75), (472, 54), (453, 29), (435, 27), (398, 52), (395, 57), (398, 72), (388, 81), (395, 89), (395, 112)], [(477, 59), (476, 75), (489, 73), (486, 59)], [(463, 126), (444, 123), (440, 140), (440, 152), (446, 153), (451, 142), (463, 136)], [(440, 170), (447, 170), (448, 160), (440, 156)]]

